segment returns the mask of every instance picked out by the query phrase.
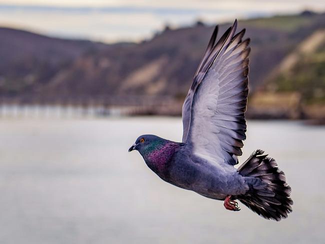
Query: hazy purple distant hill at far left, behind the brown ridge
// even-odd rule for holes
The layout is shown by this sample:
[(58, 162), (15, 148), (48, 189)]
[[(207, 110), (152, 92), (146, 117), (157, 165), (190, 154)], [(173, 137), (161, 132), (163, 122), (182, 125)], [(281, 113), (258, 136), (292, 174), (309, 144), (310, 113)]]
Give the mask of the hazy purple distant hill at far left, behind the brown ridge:
[(89, 49), (104, 45), (51, 38), (23, 30), (0, 28), (0, 94), (20, 96), (36, 89)]

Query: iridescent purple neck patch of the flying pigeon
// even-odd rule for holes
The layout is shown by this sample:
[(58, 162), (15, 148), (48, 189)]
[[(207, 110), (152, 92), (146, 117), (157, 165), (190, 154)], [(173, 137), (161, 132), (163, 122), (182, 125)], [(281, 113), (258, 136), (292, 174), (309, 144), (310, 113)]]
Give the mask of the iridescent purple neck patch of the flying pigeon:
[(167, 140), (156, 145), (153, 150), (144, 151), (143, 159), (153, 171), (163, 172), (179, 145), (180, 143)]

